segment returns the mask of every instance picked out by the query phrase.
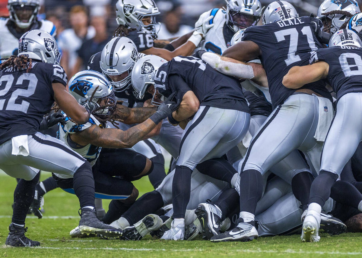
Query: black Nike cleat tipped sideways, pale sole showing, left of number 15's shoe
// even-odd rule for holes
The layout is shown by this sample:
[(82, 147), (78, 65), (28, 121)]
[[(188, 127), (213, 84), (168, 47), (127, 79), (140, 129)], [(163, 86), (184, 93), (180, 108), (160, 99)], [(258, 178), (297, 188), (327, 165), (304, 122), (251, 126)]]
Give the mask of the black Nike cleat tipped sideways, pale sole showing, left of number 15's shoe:
[(120, 239), (141, 240), (144, 236), (150, 233), (150, 231), (158, 230), (162, 223), (163, 221), (159, 216), (149, 214), (133, 226), (124, 228)]

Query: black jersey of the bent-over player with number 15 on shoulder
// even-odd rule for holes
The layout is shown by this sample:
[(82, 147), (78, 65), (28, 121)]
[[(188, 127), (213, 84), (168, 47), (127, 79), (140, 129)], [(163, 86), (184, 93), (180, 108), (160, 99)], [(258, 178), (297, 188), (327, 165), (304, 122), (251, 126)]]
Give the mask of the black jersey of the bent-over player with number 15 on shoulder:
[[(180, 76), (189, 88), (169, 83), (171, 75)], [(161, 65), (155, 73), (155, 86), (164, 96), (177, 91), (177, 98), (192, 90), (200, 106), (212, 106), (222, 109), (235, 109), (250, 113), (239, 81), (224, 75), (209, 64), (193, 56), (176, 56)]]

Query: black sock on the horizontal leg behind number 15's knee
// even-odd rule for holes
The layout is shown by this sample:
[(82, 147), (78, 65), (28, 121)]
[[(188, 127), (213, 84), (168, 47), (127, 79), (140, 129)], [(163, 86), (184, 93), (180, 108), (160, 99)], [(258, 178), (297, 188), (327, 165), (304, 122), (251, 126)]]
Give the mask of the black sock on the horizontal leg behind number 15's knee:
[(224, 182), (231, 183), (231, 179), (237, 171), (233, 166), (224, 158), (212, 158), (206, 160), (196, 166), (196, 169), (209, 177), (219, 179)]

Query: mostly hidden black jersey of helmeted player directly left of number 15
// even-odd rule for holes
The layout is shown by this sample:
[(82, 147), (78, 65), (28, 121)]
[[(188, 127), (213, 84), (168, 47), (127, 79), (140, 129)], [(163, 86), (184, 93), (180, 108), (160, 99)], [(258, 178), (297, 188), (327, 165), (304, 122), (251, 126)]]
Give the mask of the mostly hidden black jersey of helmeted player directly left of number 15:
[[(102, 52), (98, 52), (90, 57), (89, 62), (88, 62), (88, 70), (93, 70), (93, 71), (103, 73), (101, 70), (101, 64), (100, 64), (101, 54), (102, 54)], [(106, 76), (106, 77), (108, 78), (108, 76)], [(135, 103), (144, 102), (144, 100), (139, 100), (138, 98), (136, 98), (134, 96), (132, 87), (129, 87), (126, 90), (123, 90), (122, 92), (115, 91), (114, 95), (118, 98), (118, 100), (122, 100), (124, 103), (128, 103), (128, 107), (134, 107)], [(146, 97), (152, 98), (152, 96), (150, 96), (150, 94), (147, 94)], [(147, 100), (147, 98), (145, 98), (145, 99)]]

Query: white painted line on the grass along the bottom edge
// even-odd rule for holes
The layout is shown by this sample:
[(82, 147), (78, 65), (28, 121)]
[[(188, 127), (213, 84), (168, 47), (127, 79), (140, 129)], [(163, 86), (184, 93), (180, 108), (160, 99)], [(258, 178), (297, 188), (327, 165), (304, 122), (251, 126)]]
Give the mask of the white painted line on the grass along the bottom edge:
[[(34, 247), (36, 249), (55, 249), (55, 250), (123, 250), (123, 251), (167, 251), (167, 249), (153, 249), (153, 248), (82, 248), (82, 247), (47, 247), (47, 246), (37, 246)], [(175, 252), (191, 252), (191, 251), (207, 251), (204, 249), (173, 249), (172, 251)], [(302, 251), (302, 250), (233, 250), (234, 252), (238, 253), (289, 253), (289, 254), (331, 254), (331, 255), (362, 255), (362, 252), (324, 252), (324, 251)]]

